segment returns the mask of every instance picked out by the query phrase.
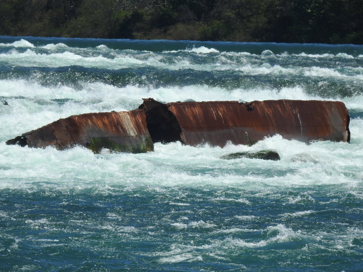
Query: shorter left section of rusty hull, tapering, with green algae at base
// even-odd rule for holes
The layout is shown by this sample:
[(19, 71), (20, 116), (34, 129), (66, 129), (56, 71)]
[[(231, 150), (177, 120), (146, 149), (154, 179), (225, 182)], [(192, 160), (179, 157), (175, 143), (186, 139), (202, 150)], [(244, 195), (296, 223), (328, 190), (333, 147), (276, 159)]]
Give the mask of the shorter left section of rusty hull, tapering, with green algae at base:
[(29, 147), (54, 146), (57, 149), (81, 145), (96, 153), (102, 148), (131, 153), (153, 150), (145, 114), (140, 110), (73, 115), (26, 132), (21, 138), (7, 143), (15, 144), (14, 141)]

